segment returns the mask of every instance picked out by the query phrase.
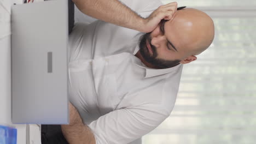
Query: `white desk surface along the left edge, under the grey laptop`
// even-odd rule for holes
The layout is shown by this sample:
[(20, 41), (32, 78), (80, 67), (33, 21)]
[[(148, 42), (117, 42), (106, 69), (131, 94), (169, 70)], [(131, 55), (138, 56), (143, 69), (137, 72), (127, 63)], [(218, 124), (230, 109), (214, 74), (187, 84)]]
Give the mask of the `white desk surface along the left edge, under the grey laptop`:
[[(10, 7), (22, 0), (0, 0), (0, 124), (18, 129), (18, 144), (26, 143), (26, 125), (11, 123)], [(8, 12), (9, 11), (9, 12)]]

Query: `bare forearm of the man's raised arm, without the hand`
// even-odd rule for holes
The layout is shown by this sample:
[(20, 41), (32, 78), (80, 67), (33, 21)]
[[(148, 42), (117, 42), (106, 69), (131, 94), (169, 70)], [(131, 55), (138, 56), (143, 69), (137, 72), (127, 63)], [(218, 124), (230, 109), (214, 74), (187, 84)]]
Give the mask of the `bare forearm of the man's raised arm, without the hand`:
[(143, 31), (142, 28), (146, 20), (118, 0), (73, 0), (73, 2), (86, 15), (115, 25)]

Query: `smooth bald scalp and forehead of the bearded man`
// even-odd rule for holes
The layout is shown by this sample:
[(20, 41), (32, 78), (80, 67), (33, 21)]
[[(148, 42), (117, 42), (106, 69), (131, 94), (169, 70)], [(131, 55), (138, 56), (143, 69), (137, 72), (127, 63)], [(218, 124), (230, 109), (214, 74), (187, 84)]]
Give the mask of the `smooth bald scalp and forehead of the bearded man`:
[(211, 17), (197, 9), (178, 10), (168, 25), (172, 27), (171, 33), (178, 39), (176, 45), (188, 55), (199, 55), (214, 39)]

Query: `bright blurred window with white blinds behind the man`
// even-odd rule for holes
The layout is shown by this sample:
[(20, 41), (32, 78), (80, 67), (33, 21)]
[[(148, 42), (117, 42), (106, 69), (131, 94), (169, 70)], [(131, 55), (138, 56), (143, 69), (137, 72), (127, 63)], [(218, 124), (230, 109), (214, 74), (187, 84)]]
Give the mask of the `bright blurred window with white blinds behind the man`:
[[(254, 144), (256, 1), (177, 2), (180, 7), (210, 10), (214, 15), (216, 36), (213, 44), (195, 62), (184, 65), (176, 105), (170, 117), (143, 136), (142, 143)], [(218, 13), (218, 9), (222, 13)]]

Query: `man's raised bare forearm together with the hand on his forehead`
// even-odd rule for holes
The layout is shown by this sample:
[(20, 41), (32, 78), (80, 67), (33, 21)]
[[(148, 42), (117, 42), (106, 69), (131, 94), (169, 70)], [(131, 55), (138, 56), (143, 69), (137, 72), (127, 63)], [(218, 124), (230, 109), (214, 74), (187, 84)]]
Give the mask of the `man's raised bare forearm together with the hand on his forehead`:
[[(158, 9), (153, 11), (147, 19), (144, 19), (119, 0), (72, 1), (77, 5), (78, 9), (86, 15), (144, 33), (152, 32), (162, 19), (172, 19), (172, 15), (177, 10), (177, 2), (161, 5)], [(141, 5), (141, 7), (143, 7), (143, 5)]]

